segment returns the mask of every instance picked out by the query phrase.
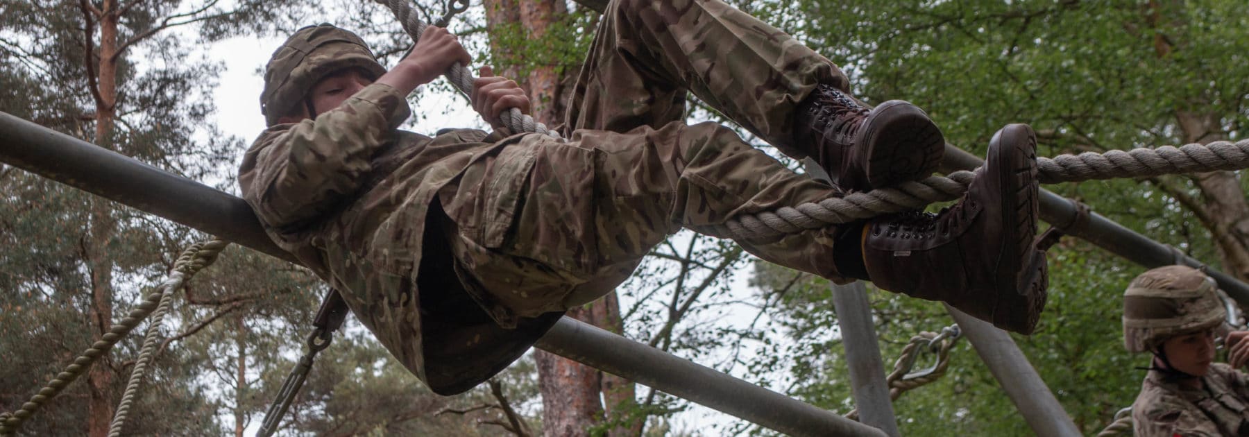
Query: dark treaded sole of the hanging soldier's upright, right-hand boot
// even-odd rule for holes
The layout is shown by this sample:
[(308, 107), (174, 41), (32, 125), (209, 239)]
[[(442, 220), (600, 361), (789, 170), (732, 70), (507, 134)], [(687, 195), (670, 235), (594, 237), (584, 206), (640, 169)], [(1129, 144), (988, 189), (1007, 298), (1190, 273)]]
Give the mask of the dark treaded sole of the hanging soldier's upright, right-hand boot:
[[(998, 253), (998, 302), (993, 325), (1029, 335), (1048, 298), (1045, 253), (1037, 250), (1037, 136), (1028, 125), (1008, 125), (989, 142), (987, 165), (999, 176), (1002, 225), (1014, 231)], [(992, 169), (992, 167), (990, 167)], [(1009, 205), (1009, 207), (1007, 207)]]

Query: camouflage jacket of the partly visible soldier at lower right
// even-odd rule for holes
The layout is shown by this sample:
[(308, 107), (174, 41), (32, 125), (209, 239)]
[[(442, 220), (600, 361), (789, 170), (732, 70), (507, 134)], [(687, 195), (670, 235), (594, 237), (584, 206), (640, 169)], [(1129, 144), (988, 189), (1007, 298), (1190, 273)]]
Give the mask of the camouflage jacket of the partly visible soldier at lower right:
[(1249, 376), (1214, 363), (1197, 390), (1149, 371), (1132, 405), (1132, 418), (1137, 436), (1249, 436), (1247, 407)]

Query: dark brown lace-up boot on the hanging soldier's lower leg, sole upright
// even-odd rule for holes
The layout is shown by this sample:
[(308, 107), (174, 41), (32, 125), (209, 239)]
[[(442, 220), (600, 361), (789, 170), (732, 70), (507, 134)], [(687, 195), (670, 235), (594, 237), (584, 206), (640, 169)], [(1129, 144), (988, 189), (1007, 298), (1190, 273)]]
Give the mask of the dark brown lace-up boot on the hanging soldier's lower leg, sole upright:
[(958, 204), (869, 221), (863, 263), (872, 282), (1032, 333), (1048, 286), (1045, 252), (1034, 242), (1035, 149), (1028, 125), (1003, 127)]

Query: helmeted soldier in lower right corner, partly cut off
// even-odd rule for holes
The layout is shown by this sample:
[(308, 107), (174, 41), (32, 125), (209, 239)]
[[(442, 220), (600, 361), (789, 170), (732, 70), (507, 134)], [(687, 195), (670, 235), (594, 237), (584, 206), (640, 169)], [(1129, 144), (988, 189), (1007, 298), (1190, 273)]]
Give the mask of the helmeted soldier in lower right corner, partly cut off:
[(1249, 436), (1249, 332), (1227, 335), (1229, 363), (1217, 363), (1225, 331), (1214, 280), (1187, 266), (1137, 276), (1123, 296), (1124, 346), (1150, 352), (1149, 375), (1132, 405), (1137, 436)]

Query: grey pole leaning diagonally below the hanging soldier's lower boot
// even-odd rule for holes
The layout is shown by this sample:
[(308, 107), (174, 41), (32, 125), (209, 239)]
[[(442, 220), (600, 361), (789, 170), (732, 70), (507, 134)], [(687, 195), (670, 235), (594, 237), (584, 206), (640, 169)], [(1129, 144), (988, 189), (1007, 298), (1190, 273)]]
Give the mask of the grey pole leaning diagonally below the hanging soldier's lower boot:
[(975, 353), (989, 367), (989, 372), (993, 372), (998, 385), (1007, 392), (1007, 397), (1014, 402), (1015, 408), (1019, 410), (1037, 436), (1080, 435), (1075, 422), (1072, 422), (1072, 417), (1058, 403), (1054, 393), (1049, 391), (1045, 382), (1040, 380), (1040, 375), (1037, 375), (1037, 370), (1028, 362), (1028, 357), (1019, 351), (1019, 346), (1015, 345), (1014, 340), (1010, 340), (1005, 331), (968, 316), (949, 305), (945, 305), (945, 310), (949, 310), (949, 315), (954, 316), (954, 322), (975, 347)]

